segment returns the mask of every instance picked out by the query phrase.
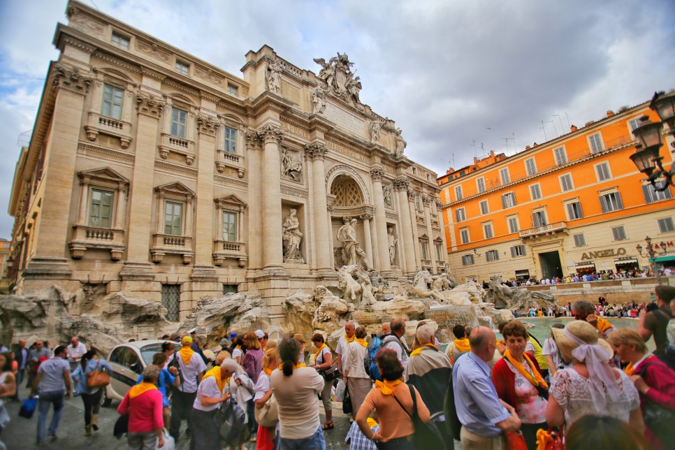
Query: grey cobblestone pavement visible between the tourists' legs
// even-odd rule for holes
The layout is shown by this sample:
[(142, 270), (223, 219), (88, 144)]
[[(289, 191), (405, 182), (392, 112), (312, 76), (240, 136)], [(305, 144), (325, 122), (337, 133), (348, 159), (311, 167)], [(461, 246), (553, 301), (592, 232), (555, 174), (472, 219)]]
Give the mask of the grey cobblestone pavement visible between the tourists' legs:
[[(21, 398), (25, 398), (29, 393), (28, 389), (21, 389)], [(4, 442), (8, 450), (34, 449), (36, 446), (36, 427), (38, 414), (33, 419), (27, 420), (18, 416), (20, 402), (7, 402), (6, 407), (10, 416), (10, 423), (0, 435), (0, 440)], [(96, 449), (112, 450), (126, 449), (126, 439), (116, 440), (113, 437), (113, 426), (117, 420), (118, 402), (108, 408), (101, 408), (99, 414), (99, 431), (92, 431), (92, 437), (85, 437), (85, 418), (82, 400), (80, 398), (71, 398), (66, 400), (64, 413), (61, 416), (61, 422), (55, 441), (48, 441), (41, 445), (40, 449), (48, 450), (75, 450), (75, 449)], [(48, 425), (52, 417), (53, 409), (50, 409), (48, 416)], [(321, 407), (321, 423), (324, 423), (324, 409)], [(335, 428), (324, 431), (326, 437), (327, 449), (349, 449), (349, 445), (344, 442), (344, 437), (349, 432), (349, 418), (342, 414), (342, 403), (333, 402), (333, 420)], [(182, 425), (184, 431), (185, 422)], [(247, 449), (255, 449), (255, 444), (247, 444)], [(460, 449), (456, 442), (456, 449)], [(189, 440), (182, 439), (178, 443), (177, 450), (188, 450)], [(431, 449), (428, 449), (431, 450)]]

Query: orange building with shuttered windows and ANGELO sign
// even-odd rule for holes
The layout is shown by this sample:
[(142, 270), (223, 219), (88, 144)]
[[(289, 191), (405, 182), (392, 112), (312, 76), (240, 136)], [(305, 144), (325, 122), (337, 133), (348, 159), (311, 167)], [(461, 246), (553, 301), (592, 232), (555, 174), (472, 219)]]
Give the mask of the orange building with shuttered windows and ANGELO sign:
[[(458, 281), (565, 277), (649, 268), (637, 254), (646, 235), (675, 260), (672, 188), (658, 192), (630, 161), (639, 117), (658, 117), (643, 103), (543, 145), (491, 155), (439, 177)], [(669, 138), (668, 138), (669, 139)], [(670, 164), (672, 148), (661, 155)]]

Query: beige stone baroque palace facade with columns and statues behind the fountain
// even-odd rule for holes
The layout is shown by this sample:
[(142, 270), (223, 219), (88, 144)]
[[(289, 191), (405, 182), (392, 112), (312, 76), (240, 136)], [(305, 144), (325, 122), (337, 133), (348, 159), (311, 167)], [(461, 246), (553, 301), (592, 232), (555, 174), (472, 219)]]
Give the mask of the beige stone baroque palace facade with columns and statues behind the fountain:
[(10, 199), (16, 291), (104, 284), (175, 321), (251, 291), (274, 319), (355, 254), (393, 283), (448, 269), (436, 174), (361, 103), (347, 55), (315, 75), (263, 46), (238, 78), (82, 3), (67, 15)]

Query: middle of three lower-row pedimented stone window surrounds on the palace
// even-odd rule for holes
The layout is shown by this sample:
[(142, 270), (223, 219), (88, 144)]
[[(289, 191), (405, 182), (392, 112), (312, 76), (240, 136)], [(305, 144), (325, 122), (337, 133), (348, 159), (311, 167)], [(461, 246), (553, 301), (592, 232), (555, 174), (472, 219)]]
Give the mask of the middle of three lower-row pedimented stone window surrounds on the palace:
[[(155, 228), (152, 235), (153, 263), (161, 263), (166, 254), (180, 254), (184, 264), (189, 264), (194, 256), (192, 250), (192, 228), (194, 223), (194, 191), (181, 182), (161, 184), (154, 188), (155, 191)], [(181, 235), (168, 235), (164, 233), (164, 221), (166, 217), (166, 202), (182, 203)]]

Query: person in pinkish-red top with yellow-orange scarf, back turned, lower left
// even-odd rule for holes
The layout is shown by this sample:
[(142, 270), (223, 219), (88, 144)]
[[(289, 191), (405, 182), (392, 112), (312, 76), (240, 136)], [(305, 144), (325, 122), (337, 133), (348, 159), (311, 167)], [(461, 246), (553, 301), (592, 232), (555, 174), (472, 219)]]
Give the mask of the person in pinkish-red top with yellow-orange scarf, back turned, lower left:
[(117, 407), (120, 415), (129, 414), (126, 440), (130, 449), (164, 447), (162, 396), (154, 385), (158, 377), (157, 365), (148, 365), (143, 370), (143, 383), (132, 386)]

